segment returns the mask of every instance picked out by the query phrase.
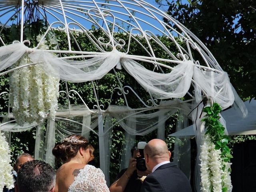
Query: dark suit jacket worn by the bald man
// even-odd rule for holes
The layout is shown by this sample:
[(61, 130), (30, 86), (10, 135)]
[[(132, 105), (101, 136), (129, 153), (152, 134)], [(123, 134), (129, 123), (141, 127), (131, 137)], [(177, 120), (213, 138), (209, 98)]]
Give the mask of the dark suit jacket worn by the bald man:
[(192, 192), (192, 189), (185, 174), (170, 162), (149, 174), (140, 192)]

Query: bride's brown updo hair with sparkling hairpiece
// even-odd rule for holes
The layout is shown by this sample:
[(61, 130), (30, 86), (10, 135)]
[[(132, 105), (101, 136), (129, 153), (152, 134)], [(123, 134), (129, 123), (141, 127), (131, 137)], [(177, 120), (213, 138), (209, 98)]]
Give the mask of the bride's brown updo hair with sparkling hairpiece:
[(93, 152), (94, 148), (89, 144), (88, 140), (81, 135), (71, 135), (62, 142), (55, 144), (52, 149), (52, 154), (63, 163), (67, 162), (69, 158), (73, 158), (78, 153), (80, 147), (90, 150), (90, 161), (94, 159)]

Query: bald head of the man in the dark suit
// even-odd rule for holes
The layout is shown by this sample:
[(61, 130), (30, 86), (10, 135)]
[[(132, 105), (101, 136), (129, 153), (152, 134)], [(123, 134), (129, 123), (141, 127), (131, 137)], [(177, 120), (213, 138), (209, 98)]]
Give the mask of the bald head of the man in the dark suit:
[(163, 140), (153, 139), (144, 148), (145, 162), (148, 170), (152, 171), (157, 164), (169, 161), (171, 152)]

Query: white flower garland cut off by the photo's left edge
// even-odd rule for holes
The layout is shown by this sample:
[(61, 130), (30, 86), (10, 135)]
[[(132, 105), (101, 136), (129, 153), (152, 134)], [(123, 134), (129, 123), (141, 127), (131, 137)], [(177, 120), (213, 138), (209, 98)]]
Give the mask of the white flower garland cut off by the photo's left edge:
[(6, 186), (8, 189), (14, 188), (12, 176), (11, 155), (4, 133), (0, 132), (0, 190)]

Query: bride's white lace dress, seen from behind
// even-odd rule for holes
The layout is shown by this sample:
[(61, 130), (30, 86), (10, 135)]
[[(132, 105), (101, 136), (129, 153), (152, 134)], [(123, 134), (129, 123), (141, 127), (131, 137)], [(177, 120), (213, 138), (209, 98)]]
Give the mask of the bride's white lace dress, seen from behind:
[(74, 178), (68, 192), (109, 192), (109, 189), (102, 170), (86, 165)]

